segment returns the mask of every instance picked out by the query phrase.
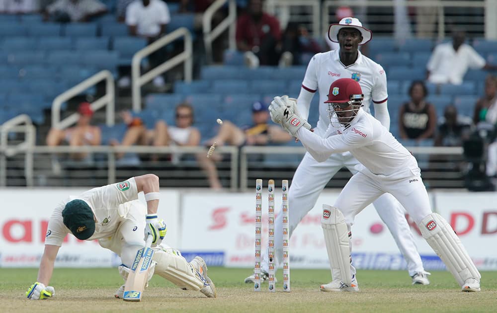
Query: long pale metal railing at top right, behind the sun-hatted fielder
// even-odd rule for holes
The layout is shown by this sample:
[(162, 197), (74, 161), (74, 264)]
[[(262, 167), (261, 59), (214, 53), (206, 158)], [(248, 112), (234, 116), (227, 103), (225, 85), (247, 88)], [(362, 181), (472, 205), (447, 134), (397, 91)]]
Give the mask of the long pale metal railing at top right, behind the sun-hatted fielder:
[[(444, 22), (444, 8), (445, 7), (483, 7), (487, 8), (490, 5), (490, 2), (487, 0), (481, 1), (451, 1), (451, 0), (406, 0), (406, 5), (408, 7), (433, 7), (438, 8), (438, 38), (442, 39), (445, 37), (445, 22)], [(366, 6), (379, 6), (379, 7), (394, 7), (395, 0), (369, 0), (369, 1), (360, 1), (358, 3), (350, 2), (348, 0), (326, 0), (322, 5), (322, 31), (323, 34), (328, 32), (328, 27), (330, 26), (329, 20), (329, 9), (330, 7), (340, 6), (340, 5), (366, 5)], [(495, 19), (495, 15), (488, 16), (492, 14), (488, 12), (489, 10), (485, 10), (485, 21), (490, 19)], [(494, 12), (495, 13), (495, 12)], [(485, 30), (487, 36), (488, 29)], [(495, 32), (495, 30), (494, 30)]]

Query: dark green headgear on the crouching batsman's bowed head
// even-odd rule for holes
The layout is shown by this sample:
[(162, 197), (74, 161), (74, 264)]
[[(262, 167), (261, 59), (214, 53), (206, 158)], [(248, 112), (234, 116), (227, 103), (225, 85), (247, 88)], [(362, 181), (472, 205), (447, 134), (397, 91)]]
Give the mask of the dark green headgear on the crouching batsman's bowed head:
[(95, 218), (89, 205), (81, 200), (69, 201), (62, 211), (64, 225), (80, 239), (88, 239), (95, 232)]

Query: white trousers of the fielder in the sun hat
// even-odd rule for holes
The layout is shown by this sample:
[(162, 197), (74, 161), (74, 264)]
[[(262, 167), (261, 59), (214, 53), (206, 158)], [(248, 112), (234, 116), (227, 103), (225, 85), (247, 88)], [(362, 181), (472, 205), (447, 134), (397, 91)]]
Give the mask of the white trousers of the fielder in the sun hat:
[[(358, 164), (360, 164), (359, 161), (350, 153), (331, 155), (321, 163), (309, 153), (305, 154), (293, 175), (288, 193), (290, 236), (300, 221), (316, 205), (319, 195), (336, 172), (345, 166), (352, 174), (356, 174), (355, 166)], [(413, 276), (422, 271), (421, 257), (417, 252), (413, 234), (399, 202), (392, 195), (385, 194), (376, 199), (373, 205), (406, 259), (409, 275)], [(282, 222), (282, 214), (278, 214), (275, 219), (275, 234), (282, 233)], [(274, 239), (276, 264), (280, 265), (283, 258), (283, 241), (278, 235), (275, 235)], [(262, 270), (268, 271), (267, 250), (263, 255), (261, 267)]]

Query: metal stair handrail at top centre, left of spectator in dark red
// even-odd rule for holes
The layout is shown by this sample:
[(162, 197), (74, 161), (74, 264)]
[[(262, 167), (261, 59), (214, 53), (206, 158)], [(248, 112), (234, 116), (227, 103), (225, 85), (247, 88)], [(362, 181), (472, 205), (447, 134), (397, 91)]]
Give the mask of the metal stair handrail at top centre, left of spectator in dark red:
[[(214, 13), (228, 2), (228, 16), (226, 16), (221, 23), (211, 30), (212, 16)], [(212, 42), (219, 37), (226, 28), (230, 28), (229, 33), (229, 49), (235, 50), (237, 48), (235, 42), (236, 32), (236, 19), (237, 19), (237, 3), (235, 0), (216, 0), (212, 3), (202, 16), (202, 28), (204, 30), (204, 46), (207, 62), (212, 63)]]

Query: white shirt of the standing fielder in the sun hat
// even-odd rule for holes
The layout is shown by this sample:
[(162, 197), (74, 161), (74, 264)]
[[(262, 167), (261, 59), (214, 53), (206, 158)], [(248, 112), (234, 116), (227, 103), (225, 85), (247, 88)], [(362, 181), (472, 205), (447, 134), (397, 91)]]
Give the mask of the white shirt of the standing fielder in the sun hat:
[[(319, 92), (319, 120), (316, 132), (323, 135), (330, 125), (328, 115), (328, 92), (333, 81), (339, 78), (352, 78), (359, 82), (364, 93), (364, 109), (369, 112), (370, 101), (382, 103), (387, 101), (387, 76), (378, 63), (362, 55), (358, 51), (355, 63), (344, 66), (340, 62), (339, 50), (332, 50), (314, 55), (307, 66), (302, 87), (310, 92)], [(298, 107), (299, 112), (304, 108)], [(309, 116), (309, 107), (303, 116)]]

